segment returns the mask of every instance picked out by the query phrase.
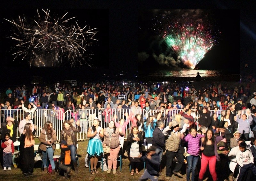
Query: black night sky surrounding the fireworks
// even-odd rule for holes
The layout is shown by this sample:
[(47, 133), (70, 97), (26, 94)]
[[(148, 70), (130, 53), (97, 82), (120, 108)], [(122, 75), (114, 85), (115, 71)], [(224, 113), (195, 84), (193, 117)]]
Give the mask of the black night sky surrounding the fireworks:
[[(252, 3), (253, 2), (253, 3)], [(20, 81), (24, 79), (25, 75), (36, 75), (44, 72), (41, 68), (26, 68), (22, 64), (19, 67), (14, 66), (12, 63), (13, 57), (10, 56), (9, 41), (6, 42), (6, 35), (4, 33), (5, 25), (11, 26), (6, 22), (6, 19), (17, 19), (17, 15), (24, 11), (24, 14), (29, 13), (30, 10), (38, 9), (62, 9), (69, 11), (69, 16), (77, 16), (79, 22), (88, 23), (91, 27), (99, 28), (100, 33), (97, 34), (99, 42), (93, 50), (93, 61), (96, 62), (95, 69), (91, 71), (90, 68), (84, 66), (76, 69), (51, 69), (51, 73), (55, 77), (59, 77), (59, 72), (62, 73), (60, 77), (73, 77), (79, 75), (81, 79), (90, 79), (92, 75), (98, 75), (97, 79), (106, 79), (102, 73), (108, 72), (109, 75), (118, 75), (118, 72), (126, 72), (127, 78), (132, 79), (136, 75), (138, 69), (138, 52), (144, 50), (140, 45), (140, 29), (139, 22), (140, 12), (154, 9), (202, 9), (215, 11), (216, 25), (220, 27), (223, 32), (219, 45), (215, 45), (205, 56), (204, 59), (208, 61), (216, 61), (215, 64), (223, 64), (227, 69), (232, 69), (236, 72), (242, 70), (244, 72), (253, 70), (256, 65), (256, 16), (255, 7), (256, 3), (232, 1), (220, 3), (218, 1), (161, 1), (161, 3), (148, 1), (49, 1), (48, 3), (42, 1), (6, 1), (1, 5), (0, 22), (1, 22), (1, 72), (8, 74), (7, 79), (2, 79), (3, 82), (13, 82), (19, 75)], [(223, 11), (220, 11), (223, 10)], [(14, 16), (12, 18), (12, 16)], [(240, 22), (240, 29), (237, 25)], [(149, 25), (148, 25), (149, 26)], [(222, 28), (222, 30), (221, 30)], [(240, 31), (240, 33), (239, 33)], [(239, 34), (238, 34), (239, 33)], [(145, 45), (145, 48), (148, 45)], [(146, 51), (146, 50), (145, 50)], [(220, 53), (216, 53), (216, 52)], [(222, 60), (221, 62), (219, 62)], [(201, 61), (198, 66), (204, 67), (204, 61)], [(248, 68), (244, 68), (244, 64), (249, 64)], [(104, 64), (104, 65), (102, 65)], [(102, 65), (102, 66), (101, 66)], [(227, 66), (228, 65), (228, 66)], [(219, 68), (219, 67), (217, 67)], [(59, 70), (60, 69), (60, 70)], [(69, 71), (69, 72), (68, 72)], [(91, 71), (91, 72), (90, 72)], [(58, 72), (58, 73), (56, 73)], [(113, 72), (113, 73), (112, 73)], [(241, 72), (243, 73), (243, 72)], [(48, 75), (46, 74), (47, 79)], [(13, 75), (13, 76), (12, 76)], [(118, 77), (118, 76), (117, 76)], [(122, 77), (118, 77), (122, 79)], [(16, 78), (17, 79), (17, 78)], [(57, 78), (56, 78), (57, 79)], [(1, 80), (1, 81), (2, 81)]]

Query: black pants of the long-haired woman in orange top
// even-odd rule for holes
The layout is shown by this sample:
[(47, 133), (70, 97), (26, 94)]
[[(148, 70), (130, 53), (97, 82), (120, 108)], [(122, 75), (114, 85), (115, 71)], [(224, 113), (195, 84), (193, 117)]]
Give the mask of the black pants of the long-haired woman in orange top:
[(33, 172), (35, 164), (34, 147), (27, 147), (23, 149), (23, 173)]

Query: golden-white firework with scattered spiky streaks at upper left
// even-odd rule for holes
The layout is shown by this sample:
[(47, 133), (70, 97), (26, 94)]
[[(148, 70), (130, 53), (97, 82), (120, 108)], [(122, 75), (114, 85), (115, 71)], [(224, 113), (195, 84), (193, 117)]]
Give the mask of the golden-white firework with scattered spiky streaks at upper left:
[(71, 66), (84, 63), (91, 66), (88, 47), (92, 45), (97, 31), (90, 26), (80, 27), (78, 23), (72, 24), (76, 17), (52, 18), (50, 10), (43, 10), (44, 18), (41, 18), (37, 10), (37, 19), (33, 23), (27, 23), (27, 19), (19, 16), (19, 23), (5, 19), (14, 24), (18, 31), (14, 31), (11, 39), (16, 41), (13, 53), (14, 59), (21, 56), (22, 60), (28, 60), (31, 66), (59, 66), (63, 62), (69, 62)]

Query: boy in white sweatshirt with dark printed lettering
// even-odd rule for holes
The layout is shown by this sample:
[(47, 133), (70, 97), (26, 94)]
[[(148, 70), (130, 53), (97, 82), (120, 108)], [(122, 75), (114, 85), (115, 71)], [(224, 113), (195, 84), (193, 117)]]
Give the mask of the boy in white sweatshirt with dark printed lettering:
[(246, 149), (246, 143), (241, 142), (239, 144), (239, 151), (236, 155), (236, 161), (240, 166), (239, 174), (236, 178), (236, 181), (243, 179), (244, 173), (247, 169), (252, 170), (253, 174), (256, 175), (256, 167), (253, 164), (252, 153)]

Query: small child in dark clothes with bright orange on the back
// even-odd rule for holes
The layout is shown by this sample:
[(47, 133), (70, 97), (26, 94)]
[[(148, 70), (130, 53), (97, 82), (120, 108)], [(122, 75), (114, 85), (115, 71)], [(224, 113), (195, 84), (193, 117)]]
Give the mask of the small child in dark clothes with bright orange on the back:
[(64, 171), (64, 177), (69, 178), (68, 175), (71, 170), (71, 157), (70, 157), (70, 149), (68, 148), (68, 143), (65, 140), (62, 140), (60, 143), (61, 147), (61, 155), (60, 155), (60, 169)]

